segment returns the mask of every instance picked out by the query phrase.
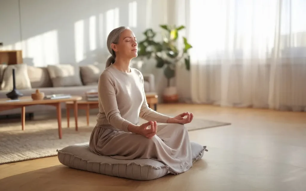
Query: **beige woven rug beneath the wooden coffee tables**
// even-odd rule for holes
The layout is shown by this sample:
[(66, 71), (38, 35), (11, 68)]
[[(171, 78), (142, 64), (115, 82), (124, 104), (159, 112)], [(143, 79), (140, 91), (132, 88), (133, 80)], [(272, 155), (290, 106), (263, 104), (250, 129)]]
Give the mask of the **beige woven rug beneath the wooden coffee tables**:
[[(170, 115), (173, 116), (173, 115)], [(25, 130), (21, 130), (19, 120), (1, 122), (0, 124), (0, 164), (31, 160), (48, 156), (56, 156), (57, 149), (68, 145), (88, 142), (95, 126), (96, 115), (90, 116), (90, 126), (87, 127), (85, 116), (78, 119), (78, 131), (74, 128), (74, 118), (70, 118), (70, 128), (67, 119), (62, 118), (62, 139), (58, 139), (57, 119), (27, 120)], [(141, 121), (145, 122), (144, 120)], [(186, 124), (189, 131), (211, 127), (230, 125), (218, 121), (194, 118)]]

